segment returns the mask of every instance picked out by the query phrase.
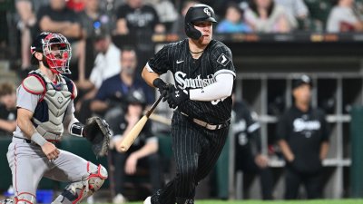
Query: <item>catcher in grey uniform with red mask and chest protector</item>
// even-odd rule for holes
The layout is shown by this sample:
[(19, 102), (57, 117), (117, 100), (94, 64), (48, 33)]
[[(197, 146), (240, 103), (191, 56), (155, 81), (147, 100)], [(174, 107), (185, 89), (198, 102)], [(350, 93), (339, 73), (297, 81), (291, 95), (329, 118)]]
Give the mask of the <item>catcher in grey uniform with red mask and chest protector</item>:
[[(15, 203), (33, 204), (43, 178), (70, 182), (53, 203), (79, 203), (103, 185), (107, 171), (101, 165), (54, 146), (64, 128), (83, 137), (83, 124), (74, 118), (74, 83), (70, 73), (71, 45), (62, 34), (39, 34), (32, 44), (29, 73), (17, 89), (17, 127), (7, 160), (13, 175)], [(9, 202), (0, 201), (0, 203)]]

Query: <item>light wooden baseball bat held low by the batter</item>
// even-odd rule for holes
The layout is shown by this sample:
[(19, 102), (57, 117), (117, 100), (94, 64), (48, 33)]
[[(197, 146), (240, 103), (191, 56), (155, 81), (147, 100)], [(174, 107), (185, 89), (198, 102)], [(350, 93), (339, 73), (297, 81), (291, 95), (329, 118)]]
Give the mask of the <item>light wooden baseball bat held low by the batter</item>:
[(152, 108), (150, 108), (149, 111), (147, 111), (140, 121), (138, 121), (135, 126), (133, 126), (132, 130), (123, 137), (123, 141), (120, 143), (120, 149), (121, 151), (125, 152), (128, 151), (131, 147), (133, 141), (139, 136), (140, 131), (142, 131), (143, 126), (145, 125), (146, 121), (148, 121), (150, 115), (152, 114), (153, 110), (156, 108), (156, 106), (159, 104), (159, 102), (162, 101), (162, 95), (159, 97), (159, 99), (152, 104)]

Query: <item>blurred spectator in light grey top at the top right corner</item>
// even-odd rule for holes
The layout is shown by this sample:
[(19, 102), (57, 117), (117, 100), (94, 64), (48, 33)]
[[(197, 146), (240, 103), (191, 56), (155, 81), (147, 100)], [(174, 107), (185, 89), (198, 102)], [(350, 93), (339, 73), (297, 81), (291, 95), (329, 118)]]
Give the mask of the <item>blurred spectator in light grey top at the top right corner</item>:
[(331, 33), (363, 31), (363, 19), (354, 9), (354, 0), (337, 1), (330, 11), (327, 31)]

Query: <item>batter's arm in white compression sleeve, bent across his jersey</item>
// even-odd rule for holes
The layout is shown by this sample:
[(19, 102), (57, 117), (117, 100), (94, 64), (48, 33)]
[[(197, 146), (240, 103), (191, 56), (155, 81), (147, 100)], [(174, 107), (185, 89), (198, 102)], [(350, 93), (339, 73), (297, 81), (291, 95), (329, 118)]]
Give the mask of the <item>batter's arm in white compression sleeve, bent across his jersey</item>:
[(199, 89), (190, 90), (190, 98), (194, 101), (211, 102), (231, 96), (233, 75), (221, 73), (216, 76), (216, 82)]

